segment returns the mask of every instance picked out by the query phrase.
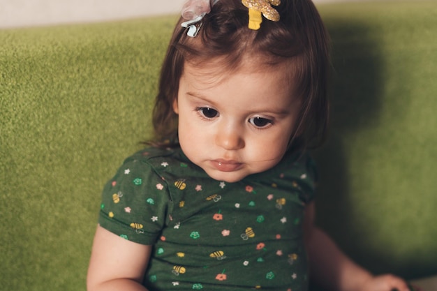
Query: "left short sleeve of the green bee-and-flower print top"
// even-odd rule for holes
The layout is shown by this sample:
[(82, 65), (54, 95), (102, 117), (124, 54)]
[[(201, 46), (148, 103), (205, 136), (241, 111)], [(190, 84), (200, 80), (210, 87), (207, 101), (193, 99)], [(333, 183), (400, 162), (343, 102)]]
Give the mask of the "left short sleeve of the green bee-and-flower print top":
[(138, 244), (154, 244), (170, 205), (165, 181), (146, 159), (129, 158), (103, 189), (98, 223)]

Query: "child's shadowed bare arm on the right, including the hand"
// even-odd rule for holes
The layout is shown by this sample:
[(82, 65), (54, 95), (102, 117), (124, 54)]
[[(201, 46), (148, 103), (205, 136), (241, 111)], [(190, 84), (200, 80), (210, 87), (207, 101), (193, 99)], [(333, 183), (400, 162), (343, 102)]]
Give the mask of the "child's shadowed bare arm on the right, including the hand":
[(373, 276), (344, 255), (334, 241), (314, 225), (314, 203), (305, 214), (306, 247), (311, 276), (323, 287), (340, 291), (408, 291), (405, 281), (393, 275)]

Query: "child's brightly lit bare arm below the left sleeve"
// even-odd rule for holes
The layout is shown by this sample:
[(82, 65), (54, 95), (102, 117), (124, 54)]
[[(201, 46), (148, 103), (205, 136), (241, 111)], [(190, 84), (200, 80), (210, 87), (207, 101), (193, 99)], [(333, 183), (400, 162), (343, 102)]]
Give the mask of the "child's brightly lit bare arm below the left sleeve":
[(87, 275), (88, 291), (147, 291), (141, 285), (151, 246), (136, 244), (98, 226)]

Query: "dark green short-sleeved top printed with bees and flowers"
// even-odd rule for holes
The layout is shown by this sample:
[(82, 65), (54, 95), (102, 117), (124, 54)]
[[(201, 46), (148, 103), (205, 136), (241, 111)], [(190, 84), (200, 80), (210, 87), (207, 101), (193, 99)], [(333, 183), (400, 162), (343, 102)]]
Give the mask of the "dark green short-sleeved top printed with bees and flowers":
[(153, 245), (150, 290), (308, 289), (305, 204), (315, 170), (308, 154), (286, 154), (271, 170), (216, 181), (181, 149), (144, 149), (103, 191), (99, 224)]

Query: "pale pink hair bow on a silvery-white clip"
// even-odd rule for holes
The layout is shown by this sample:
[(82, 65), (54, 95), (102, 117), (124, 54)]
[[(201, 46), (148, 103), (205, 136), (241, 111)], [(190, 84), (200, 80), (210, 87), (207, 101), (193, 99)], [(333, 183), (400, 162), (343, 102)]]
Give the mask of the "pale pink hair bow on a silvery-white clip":
[(211, 7), (218, 0), (188, 0), (182, 7), (182, 17), (186, 22), (182, 22), (182, 27), (188, 28), (187, 36), (194, 38), (198, 35), (202, 27), (202, 19), (211, 12)]

